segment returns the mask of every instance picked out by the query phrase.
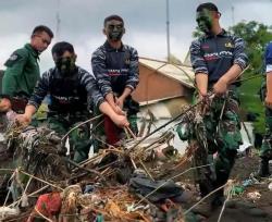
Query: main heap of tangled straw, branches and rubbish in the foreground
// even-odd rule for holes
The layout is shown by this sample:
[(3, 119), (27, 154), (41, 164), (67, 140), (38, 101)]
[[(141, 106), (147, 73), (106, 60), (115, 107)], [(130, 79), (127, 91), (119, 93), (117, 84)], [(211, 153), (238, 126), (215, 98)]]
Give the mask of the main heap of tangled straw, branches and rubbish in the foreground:
[(54, 132), (13, 124), (5, 141), (15, 164), (1, 169), (9, 192), (0, 220), (184, 221), (180, 203), (188, 194), (165, 169), (184, 160), (172, 138), (168, 132), (148, 146), (126, 139), (77, 164)]

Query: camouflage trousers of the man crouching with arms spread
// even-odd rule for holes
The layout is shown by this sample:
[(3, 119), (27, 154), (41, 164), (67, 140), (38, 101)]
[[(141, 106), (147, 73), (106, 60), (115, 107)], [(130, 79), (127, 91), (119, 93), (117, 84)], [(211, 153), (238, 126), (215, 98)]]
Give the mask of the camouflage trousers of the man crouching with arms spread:
[[(71, 128), (81, 122), (89, 119), (87, 115), (49, 115), (47, 120), (48, 127), (53, 130), (60, 136), (64, 136)], [(84, 124), (74, 130), (69, 135), (70, 152), (75, 162), (82, 162), (88, 159), (91, 145), (89, 124)]]

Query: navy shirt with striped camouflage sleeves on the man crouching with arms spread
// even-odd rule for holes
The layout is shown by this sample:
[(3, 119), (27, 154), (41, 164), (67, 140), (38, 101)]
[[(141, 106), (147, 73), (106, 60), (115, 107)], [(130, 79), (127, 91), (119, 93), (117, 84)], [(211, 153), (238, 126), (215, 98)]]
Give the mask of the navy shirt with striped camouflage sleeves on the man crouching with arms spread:
[(99, 107), (103, 101), (95, 77), (78, 66), (69, 77), (63, 77), (57, 67), (44, 73), (28, 103), (38, 108), (47, 95), (49, 111), (59, 113), (81, 112), (87, 110), (88, 102)]

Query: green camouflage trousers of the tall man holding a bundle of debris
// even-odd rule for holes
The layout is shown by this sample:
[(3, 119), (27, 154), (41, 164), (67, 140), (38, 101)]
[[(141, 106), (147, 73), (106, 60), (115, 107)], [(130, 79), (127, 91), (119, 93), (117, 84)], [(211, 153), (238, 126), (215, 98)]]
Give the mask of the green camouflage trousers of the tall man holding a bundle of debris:
[[(226, 183), (242, 145), (239, 130), (238, 97), (234, 88), (222, 97), (213, 98), (189, 139), (189, 144), (198, 146), (194, 157), (195, 166), (210, 164), (196, 170), (196, 181), (203, 190), (202, 195)], [(213, 158), (215, 152), (217, 157)]]

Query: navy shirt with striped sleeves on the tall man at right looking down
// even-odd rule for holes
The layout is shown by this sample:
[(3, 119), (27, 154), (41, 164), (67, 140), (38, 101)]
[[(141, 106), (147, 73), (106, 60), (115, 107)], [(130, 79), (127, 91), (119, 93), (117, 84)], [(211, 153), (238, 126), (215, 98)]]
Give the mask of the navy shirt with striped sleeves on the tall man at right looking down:
[(195, 73), (209, 75), (209, 83), (215, 83), (233, 64), (242, 70), (247, 66), (245, 42), (224, 29), (217, 36), (205, 35), (190, 45), (190, 61)]

